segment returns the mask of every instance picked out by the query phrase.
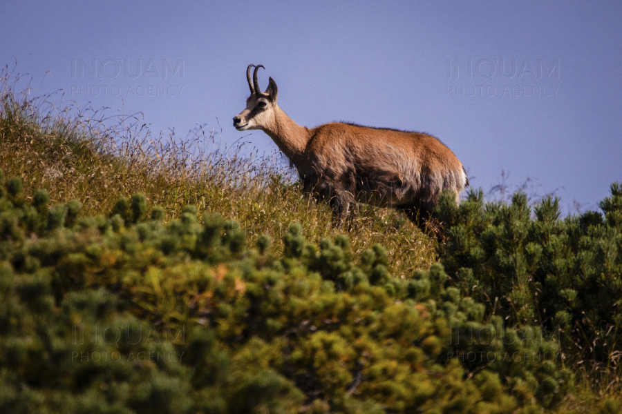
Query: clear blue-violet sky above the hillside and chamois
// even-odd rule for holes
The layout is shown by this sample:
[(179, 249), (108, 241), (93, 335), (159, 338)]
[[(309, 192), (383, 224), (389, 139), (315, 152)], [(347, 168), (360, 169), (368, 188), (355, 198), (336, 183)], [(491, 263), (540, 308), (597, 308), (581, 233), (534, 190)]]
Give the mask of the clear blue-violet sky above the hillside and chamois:
[(428, 132), (484, 190), (505, 171), (572, 211), (622, 181), (621, 1), (12, 1), (0, 39), (39, 92), (178, 137), (276, 148), (232, 126), (261, 63), (299, 124)]

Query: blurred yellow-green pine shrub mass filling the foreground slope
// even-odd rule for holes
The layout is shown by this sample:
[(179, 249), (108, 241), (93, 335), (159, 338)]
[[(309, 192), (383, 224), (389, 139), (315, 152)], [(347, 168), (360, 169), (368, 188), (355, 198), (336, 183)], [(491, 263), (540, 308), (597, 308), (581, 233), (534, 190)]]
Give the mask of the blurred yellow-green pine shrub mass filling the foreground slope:
[(398, 279), (382, 246), (299, 224), (274, 255), (192, 206), (162, 224), (142, 195), (80, 217), (19, 194), (0, 199), (3, 412), (510, 413), (572, 390), (554, 340), (487, 318), (440, 264)]

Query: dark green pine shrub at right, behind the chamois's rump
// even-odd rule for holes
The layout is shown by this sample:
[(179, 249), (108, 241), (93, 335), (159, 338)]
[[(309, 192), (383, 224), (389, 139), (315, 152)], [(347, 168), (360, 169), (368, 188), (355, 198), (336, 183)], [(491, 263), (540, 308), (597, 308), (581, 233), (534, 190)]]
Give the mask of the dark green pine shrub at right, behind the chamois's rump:
[[(485, 203), (471, 190), (457, 208), (449, 195), (437, 211), (448, 238), (441, 253), (452, 284), (506, 325), (540, 326), (558, 337), (565, 366), (614, 380), (622, 324), (622, 186), (587, 211), (560, 218), (559, 200), (531, 208)], [(602, 375), (601, 375), (602, 374)]]

